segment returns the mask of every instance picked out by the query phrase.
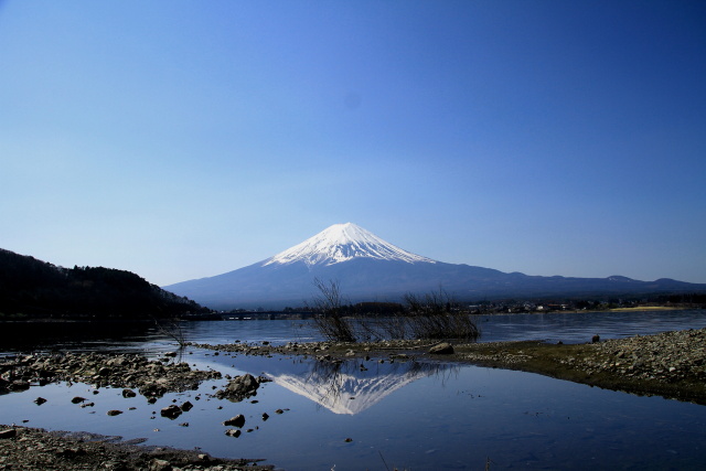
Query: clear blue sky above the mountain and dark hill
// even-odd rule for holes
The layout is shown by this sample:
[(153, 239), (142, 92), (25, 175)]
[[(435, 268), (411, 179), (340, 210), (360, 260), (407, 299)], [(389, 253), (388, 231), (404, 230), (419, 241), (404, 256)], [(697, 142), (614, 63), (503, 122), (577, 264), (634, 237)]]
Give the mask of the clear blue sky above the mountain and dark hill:
[(704, 1), (0, 0), (0, 247), (158, 285), (354, 222), (706, 282)]

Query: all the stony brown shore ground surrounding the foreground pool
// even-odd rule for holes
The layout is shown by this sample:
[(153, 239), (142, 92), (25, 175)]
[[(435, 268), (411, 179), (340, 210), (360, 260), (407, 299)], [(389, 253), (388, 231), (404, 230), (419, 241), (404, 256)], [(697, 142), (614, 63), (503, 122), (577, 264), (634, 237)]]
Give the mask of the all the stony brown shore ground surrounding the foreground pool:
[[(520, 370), (639, 395), (706, 405), (706, 329), (638, 335), (584, 344), (543, 342), (454, 343), (418, 340), (370, 343), (290, 342), (271, 345), (235, 342), (191, 347), (245, 355), (303, 355), (320, 362), (352, 358), (377, 362), (469, 363)], [(51, 382), (83, 382), (96, 387), (124, 388), (156, 400), (169, 392), (195, 389), (217, 371), (191, 370), (175, 353), (147, 360), (141, 355), (65, 353), (0, 358), (0, 394), (24, 390)], [(215, 397), (239, 402), (249, 397), (264, 377), (226, 377), (228, 385)], [(128, 397), (128, 396), (126, 396)], [(38, 398), (36, 400), (40, 400)], [(77, 398), (87, 400), (85, 398)], [(185, 403), (182, 407), (186, 407)], [(170, 406), (176, 407), (179, 406)], [(184, 409), (186, 410), (186, 409)], [(162, 410), (164, 414), (164, 410)], [(231, 419), (237, 422), (237, 417)], [(226, 424), (229, 425), (229, 424)], [(237, 424), (235, 424), (237, 427)], [(233, 429), (233, 432), (238, 430)], [(259, 460), (222, 460), (205, 453), (111, 442), (89, 433), (47, 432), (0, 425), (0, 470), (264, 470)]]

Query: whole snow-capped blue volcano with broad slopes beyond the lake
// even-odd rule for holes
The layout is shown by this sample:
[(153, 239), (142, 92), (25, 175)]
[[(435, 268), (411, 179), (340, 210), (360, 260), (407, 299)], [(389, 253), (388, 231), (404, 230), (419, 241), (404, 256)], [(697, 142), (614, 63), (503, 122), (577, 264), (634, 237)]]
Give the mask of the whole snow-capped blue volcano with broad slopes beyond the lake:
[(404, 250), (352, 223), (334, 224), (287, 250), (250, 266), (210, 278), (163, 287), (212, 309), (281, 309), (317, 295), (313, 279), (338, 280), (351, 302), (398, 301), (405, 293), (443, 289), (459, 300), (548, 296), (706, 291), (662, 278), (639, 281), (622, 276), (567, 278), (506, 274), (491, 268), (446, 264)]

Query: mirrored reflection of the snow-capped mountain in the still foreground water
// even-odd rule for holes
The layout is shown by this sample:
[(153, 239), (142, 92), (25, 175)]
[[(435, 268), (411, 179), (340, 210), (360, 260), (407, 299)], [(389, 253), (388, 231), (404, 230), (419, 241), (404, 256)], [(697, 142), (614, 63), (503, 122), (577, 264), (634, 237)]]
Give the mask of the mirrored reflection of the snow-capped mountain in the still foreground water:
[(400, 387), (451, 365), (431, 363), (313, 362), (306, 374), (271, 374), (275, 383), (318, 403), (334, 414), (359, 414)]

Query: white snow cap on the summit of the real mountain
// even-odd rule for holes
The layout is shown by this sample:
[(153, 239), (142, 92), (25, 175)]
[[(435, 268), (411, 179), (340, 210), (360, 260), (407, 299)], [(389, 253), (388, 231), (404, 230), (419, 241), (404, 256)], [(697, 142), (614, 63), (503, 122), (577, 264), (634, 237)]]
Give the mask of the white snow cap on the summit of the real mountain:
[(263, 266), (270, 264), (285, 265), (296, 261), (303, 261), (307, 266), (333, 265), (361, 257), (406, 261), (409, 264), (418, 261), (436, 263), (430, 258), (403, 250), (361, 226), (346, 223), (328, 227), (301, 244), (268, 258)]

